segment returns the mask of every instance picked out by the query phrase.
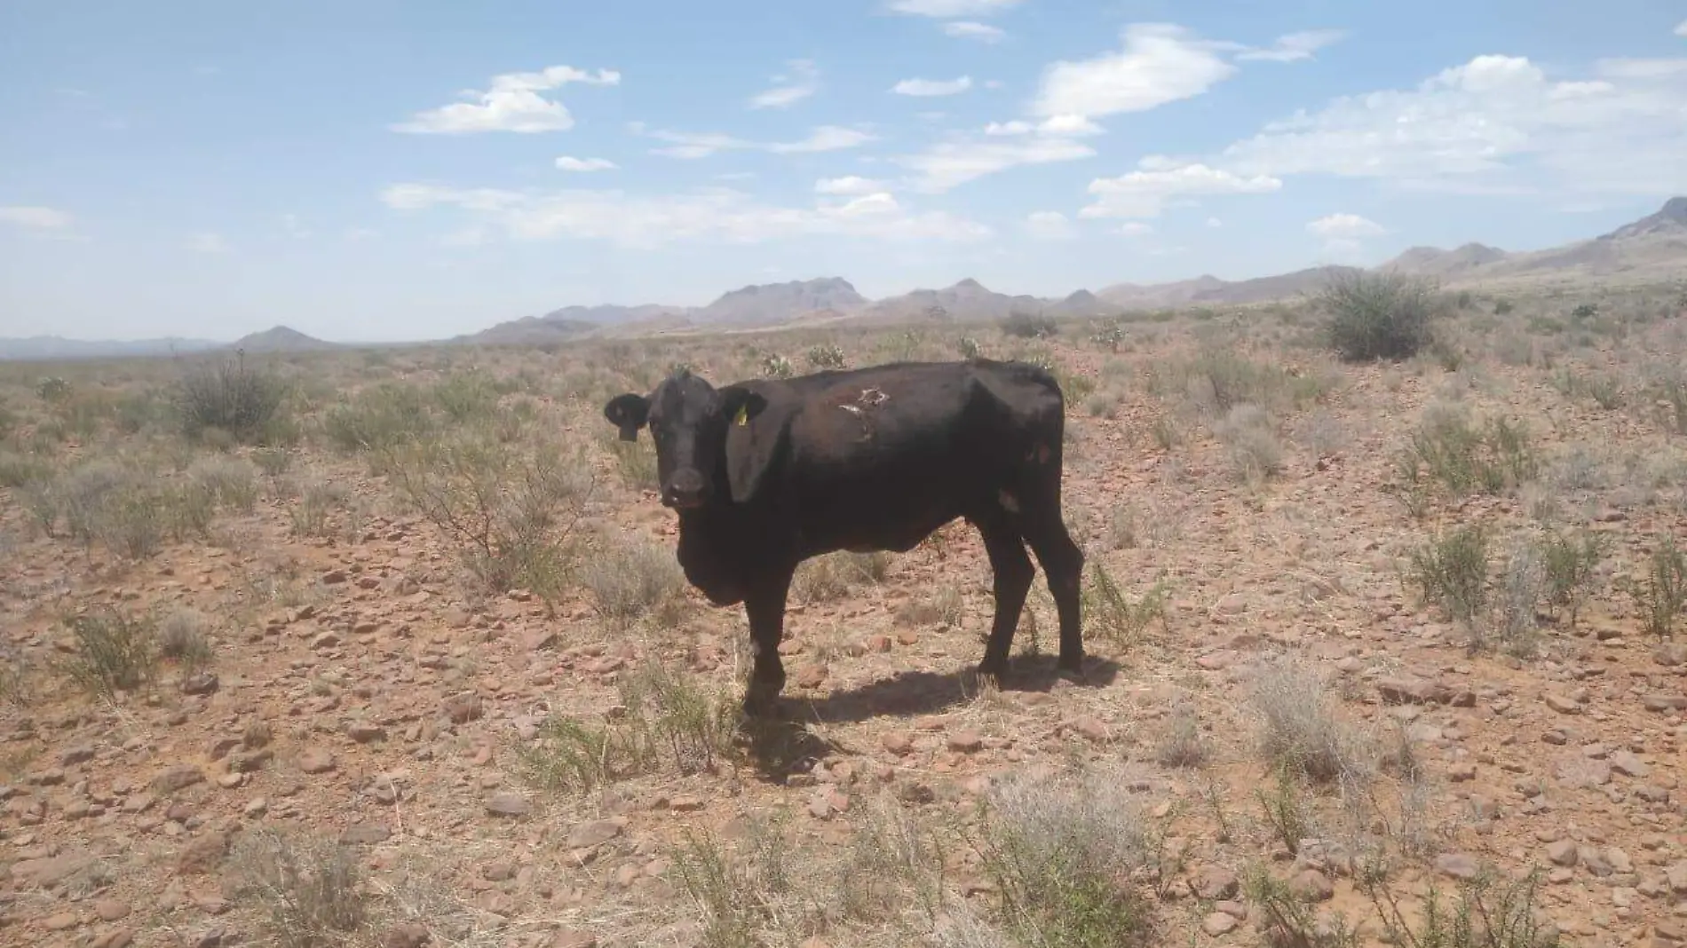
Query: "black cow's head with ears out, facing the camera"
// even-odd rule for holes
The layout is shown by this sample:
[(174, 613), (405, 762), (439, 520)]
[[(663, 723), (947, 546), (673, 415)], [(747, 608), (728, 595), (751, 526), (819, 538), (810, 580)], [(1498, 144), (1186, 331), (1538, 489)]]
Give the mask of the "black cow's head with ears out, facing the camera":
[(709, 503), (722, 487), (714, 481), (725, 459), (730, 427), (747, 425), (766, 407), (766, 398), (744, 386), (715, 388), (680, 369), (649, 395), (611, 398), (604, 417), (621, 428), (621, 440), (638, 440), (638, 430), (649, 425), (649, 437), (656, 442), (661, 503), (692, 509)]

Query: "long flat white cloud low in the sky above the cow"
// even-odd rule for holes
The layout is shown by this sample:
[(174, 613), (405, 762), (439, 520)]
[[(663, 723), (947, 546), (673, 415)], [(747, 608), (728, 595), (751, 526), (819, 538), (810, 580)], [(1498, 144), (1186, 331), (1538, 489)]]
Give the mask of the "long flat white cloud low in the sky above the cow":
[(454, 207), (482, 234), (511, 240), (597, 240), (648, 250), (676, 241), (759, 243), (795, 236), (864, 236), (901, 241), (978, 241), (990, 228), (941, 211), (914, 213), (887, 192), (840, 204), (781, 207), (725, 187), (688, 194), (621, 191), (518, 192), (398, 184), (381, 192), (395, 211)]

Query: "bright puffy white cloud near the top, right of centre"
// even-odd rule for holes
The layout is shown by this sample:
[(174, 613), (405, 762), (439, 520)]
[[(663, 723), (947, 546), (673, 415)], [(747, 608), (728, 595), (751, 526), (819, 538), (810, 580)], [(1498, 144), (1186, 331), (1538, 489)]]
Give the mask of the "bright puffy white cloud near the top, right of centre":
[(1043, 71), (1032, 111), (1039, 116), (1103, 116), (1145, 111), (1205, 93), (1237, 67), (1220, 51), (1235, 44), (1198, 39), (1174, 24), (1130, 24), (1124, 51)]

